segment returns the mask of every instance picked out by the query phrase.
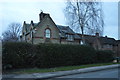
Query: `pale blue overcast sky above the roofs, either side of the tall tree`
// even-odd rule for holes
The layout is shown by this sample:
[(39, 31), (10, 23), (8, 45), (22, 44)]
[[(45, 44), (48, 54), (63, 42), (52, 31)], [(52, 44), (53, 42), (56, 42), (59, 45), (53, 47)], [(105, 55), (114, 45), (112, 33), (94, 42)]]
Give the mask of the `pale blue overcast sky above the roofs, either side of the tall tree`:
[[(118, 2), (102, 2), (104, 35), (118, 39)], [(12, 22), (39, 22), (41, 10), (49, 13), (56, 24), (67, 25), (64, 16), (65, 1), (58, 0), (4, 0), (0, 1), (0, 35)]]

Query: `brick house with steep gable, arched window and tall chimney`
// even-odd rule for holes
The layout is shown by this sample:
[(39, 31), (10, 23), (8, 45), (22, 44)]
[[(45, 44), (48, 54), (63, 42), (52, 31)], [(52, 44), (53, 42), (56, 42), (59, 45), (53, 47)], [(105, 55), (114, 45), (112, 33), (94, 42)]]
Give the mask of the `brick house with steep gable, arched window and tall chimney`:
[(61, 43), (80, 44), (81, 38), (69, 27), (56, 25), (49, 14), (41, 12), (40, 21), (30, 24), (24, 21), (22, 41), (32, 44)]

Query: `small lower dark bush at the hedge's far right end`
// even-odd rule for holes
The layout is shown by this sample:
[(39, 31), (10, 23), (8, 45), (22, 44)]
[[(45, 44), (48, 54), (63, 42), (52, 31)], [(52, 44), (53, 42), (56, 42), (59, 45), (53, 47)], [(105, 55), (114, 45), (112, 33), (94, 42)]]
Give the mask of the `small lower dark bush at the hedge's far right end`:
[(112, 62), (113, 61), (113, 52), (104, 50), (104, 51), (97, 51), (97, 62), (98, 63), (106, 63), (106, 62)]

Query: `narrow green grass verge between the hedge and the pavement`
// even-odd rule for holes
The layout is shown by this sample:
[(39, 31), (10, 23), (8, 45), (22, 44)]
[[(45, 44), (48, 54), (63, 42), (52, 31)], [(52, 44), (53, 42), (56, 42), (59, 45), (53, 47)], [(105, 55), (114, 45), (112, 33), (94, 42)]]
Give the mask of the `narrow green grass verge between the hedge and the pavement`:
[(45, 72), (56, 72), (56, 71), (67, 71), (67, 70), (74, 70), (74, 69), (82, 69), (88, 67), (95, 67), (95, 66), (104, 66), (104, 65), (112, 65), (117, 63), (99, 63), (99, 64), (87, 64), (87, 65), (78, 65), (78, 66), (64, 66), (64, 67), (55, 67), (55, 68), (46, 68), (46, 69), (39, 69), (39, 68), (32, 68), (32, 69), (19, 69), (19, 70), (12, 70), (12, 71), (5, 71), (3, 72), (13, 73), (13, 74), (25, 74), (25, 73), (45, 73)]

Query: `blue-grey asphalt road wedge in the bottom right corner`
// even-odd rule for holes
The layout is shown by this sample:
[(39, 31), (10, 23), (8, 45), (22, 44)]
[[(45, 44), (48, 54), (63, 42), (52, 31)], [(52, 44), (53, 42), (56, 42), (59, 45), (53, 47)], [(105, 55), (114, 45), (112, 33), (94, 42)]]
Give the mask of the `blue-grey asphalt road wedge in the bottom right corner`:
[[(61, 76), (61, 77), (55, 77), (56, 79), (67, 79), (67, 78), (72, 78), (73, 80), (76, 78), (119, 78), (119, 69), (114, 68), (114, 69), (105, 69), (105, 70), (100, 70), (100, 71), (95, 71), (95, 72), (88, 72), (88, 73), (83, 73), (83, 74), (73, 74), (73, 75), (67, 75), (67, 76)], [(54, 78), (50, 78), (51, 80), (54, 80)], [(118, 79), (117, 79), (118, 80)]]

